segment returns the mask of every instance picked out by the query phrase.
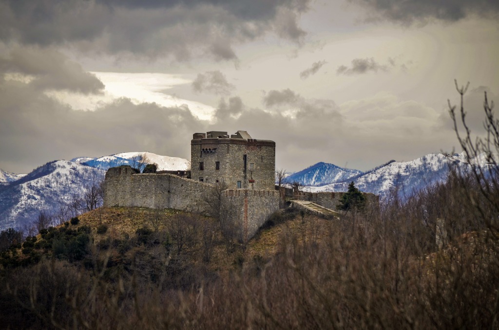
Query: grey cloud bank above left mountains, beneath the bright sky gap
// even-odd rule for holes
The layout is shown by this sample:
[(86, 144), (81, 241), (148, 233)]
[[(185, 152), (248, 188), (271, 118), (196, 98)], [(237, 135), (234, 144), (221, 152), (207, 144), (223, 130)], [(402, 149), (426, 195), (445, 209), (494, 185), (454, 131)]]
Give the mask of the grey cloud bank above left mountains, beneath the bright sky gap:
[[(74, 111), (39, 89), (0, 80), (0, 168), (27, 172), (55, 159), (150, 151), (189, 158), (189, 135), (204, 127), (186, 107), (118, 99)], [(182, 138), (179, 138), (182, 137)]]

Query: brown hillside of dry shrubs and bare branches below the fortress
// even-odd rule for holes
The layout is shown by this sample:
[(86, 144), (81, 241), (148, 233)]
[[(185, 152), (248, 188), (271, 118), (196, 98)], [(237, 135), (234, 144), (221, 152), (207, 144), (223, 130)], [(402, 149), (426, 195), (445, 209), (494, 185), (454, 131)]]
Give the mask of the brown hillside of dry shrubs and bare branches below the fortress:
[[(472, 217), (461, 197), (431, 219)], [(248, 244), (209, 217), (99, 208), (2, 253), (0, 328), (498, 329), (497, 231), (455, 218), (439, 251), (430, 204), (288, 210)]]

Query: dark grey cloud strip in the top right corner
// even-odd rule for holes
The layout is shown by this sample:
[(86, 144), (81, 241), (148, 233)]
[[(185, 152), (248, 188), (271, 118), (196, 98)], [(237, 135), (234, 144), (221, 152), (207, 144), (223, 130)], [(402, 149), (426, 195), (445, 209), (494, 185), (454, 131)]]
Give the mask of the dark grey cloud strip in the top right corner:
[[(458, 21), (469, 15), (497, 18), (497, 0), (350, 0), (366, 7), (371, 19), (388, 19), (403, 24), (429, 19)], [(373, 12), (374, 11), (374, 12)]]

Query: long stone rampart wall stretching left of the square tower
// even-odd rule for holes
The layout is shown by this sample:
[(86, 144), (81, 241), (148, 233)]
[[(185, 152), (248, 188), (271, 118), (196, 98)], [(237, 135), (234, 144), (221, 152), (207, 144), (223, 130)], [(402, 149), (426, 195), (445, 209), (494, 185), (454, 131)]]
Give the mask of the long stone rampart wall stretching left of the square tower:
[(204, 212), (203, 197), (212, 185), (172, 174), (136, 174), (130, 167), (113, 167), (104, 180), (104, 206), (174, 208)]

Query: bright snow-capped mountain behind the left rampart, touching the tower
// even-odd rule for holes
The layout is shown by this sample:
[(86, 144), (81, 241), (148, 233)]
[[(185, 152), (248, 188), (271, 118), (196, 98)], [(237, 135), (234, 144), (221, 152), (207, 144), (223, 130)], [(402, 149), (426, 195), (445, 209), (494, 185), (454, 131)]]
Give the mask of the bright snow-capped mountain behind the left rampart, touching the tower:
[(104, 156), (101, 158), (75, 158), (72, 161), (88, 165), (91, 167), (108, 170), (111, 167), (119, 165), (134, 166), (139, 157), (145, 156), (148, 163), (156, 163), (158, 170), (186, 170), (190, 167), (190, 162), (184, 158), (160, 156), (153, 153), (122, 153), (111, 156)]

